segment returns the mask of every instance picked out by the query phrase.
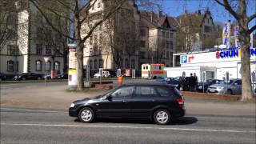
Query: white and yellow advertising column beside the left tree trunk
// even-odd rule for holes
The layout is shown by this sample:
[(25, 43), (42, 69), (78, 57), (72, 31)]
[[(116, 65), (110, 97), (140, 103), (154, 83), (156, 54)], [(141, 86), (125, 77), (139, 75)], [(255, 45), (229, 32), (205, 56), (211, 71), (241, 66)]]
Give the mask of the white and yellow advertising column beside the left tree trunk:
[(77, 51), (77, 44), (68, 44), (69, 46), (69, 74), (68, 74), (68, 87), (69, 90), (76, 90), (78, 87), (78, 70), (77, 58), (75, 56)]

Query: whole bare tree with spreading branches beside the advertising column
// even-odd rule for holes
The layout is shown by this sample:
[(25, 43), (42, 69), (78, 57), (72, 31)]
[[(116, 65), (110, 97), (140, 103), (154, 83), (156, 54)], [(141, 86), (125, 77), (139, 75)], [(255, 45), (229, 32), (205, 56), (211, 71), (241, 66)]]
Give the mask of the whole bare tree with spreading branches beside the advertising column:
[[(90, 10), (96, 6), (97, 0), (54, 0), (54, 1), (40, 1), (40, 0), (30, 0), (33, 5), (41, 12), (42, 16), (46, 19), (46, 22), (57, 31), (59, 34), (66, 38), (70, 38), (77, 43), (77, 53), (76, 57), (78, 60), (78, 88), (77, 90), (82, 90), (84, 88), (83, 82), (83, 49), (84, 43), (90, 35), (94, 32), (95, 28), (99, 26), (102, 22), (110, 18), (118, 9), (120, 9), (125, 0), (111, 0), (104, 1), (104, 9), (98, 11), (97, 13), (91, 13)], [(98, 3), (97, 3), (98, 4)], [(52, 6), (60, 5), (61, 9), (56, 9)], [(51, 7), (50, 7), (51, 6)], [(47, 10), (50, 14), (57, 15), (59, 18), (64, 18), (68, 20), (74, 26), (74, 34), (63, 33), (58, 27), (50, 22), (49, 15), (47, 15), (44, 10)]]

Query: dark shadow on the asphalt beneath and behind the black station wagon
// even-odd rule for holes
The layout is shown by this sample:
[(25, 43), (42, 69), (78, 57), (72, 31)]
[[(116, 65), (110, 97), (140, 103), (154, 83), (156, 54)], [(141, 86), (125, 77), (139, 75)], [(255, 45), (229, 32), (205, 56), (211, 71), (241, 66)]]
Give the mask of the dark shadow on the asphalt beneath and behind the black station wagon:
[[(78, 118), (74, 119), (74, 122), (80, 122)], [(97, 119), (94, 123), (129, 123), (129, 124), (154, 124), (153, 121), (148, 119), (130, 119), (130, 118), (114, 118), (114, 119)], [(190, 125), (193, 123), (198, 122), (198, 118), (195, 117), (182, 117), (182, 118), (175, 118), (170, 125)]]

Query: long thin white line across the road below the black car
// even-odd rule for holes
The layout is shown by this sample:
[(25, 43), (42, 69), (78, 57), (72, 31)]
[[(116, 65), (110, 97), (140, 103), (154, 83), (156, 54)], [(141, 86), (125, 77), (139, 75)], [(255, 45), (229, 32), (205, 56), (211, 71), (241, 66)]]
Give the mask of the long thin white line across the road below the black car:
[(126, 128), (126, 129), (150, 129), (150, 130), (188, 130), (188, 131), (208, 131), (208, 132), (226, 132), (226, 133), (256, 133), (256, 131), (250, 130), (214, 130), (214, 129), (184, 129), (174, 127), (140, 127), (140, 126), (105, 126), (105, 125), (52, 125), (52, 124), (33, 124), (33, 123), (1, 123), (5, 126), (51, 126), (51, 127), (98, 127), (98, 128)]

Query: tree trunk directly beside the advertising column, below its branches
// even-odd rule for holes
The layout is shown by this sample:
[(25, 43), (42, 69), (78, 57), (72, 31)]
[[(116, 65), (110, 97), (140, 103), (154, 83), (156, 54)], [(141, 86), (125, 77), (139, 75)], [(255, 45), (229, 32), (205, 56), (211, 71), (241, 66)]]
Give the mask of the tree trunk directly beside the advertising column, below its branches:
[(77, 90), (83, 90), (83, 48), (84, 45), (81, 42), (78, 42), (77, 46), (77, 59), (78, 59), (78, 88)]

